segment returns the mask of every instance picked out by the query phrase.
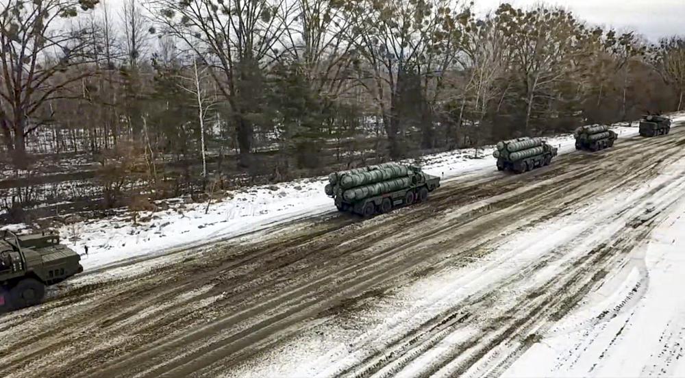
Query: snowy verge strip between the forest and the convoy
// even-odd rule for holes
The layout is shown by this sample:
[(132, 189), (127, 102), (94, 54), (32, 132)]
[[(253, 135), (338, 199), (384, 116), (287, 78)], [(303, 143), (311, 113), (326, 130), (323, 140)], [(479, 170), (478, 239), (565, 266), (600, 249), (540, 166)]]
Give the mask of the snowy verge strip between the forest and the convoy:
[[(680, 118), (685, 119), (685, 115)], [(637, 135), (635, 126), (636, 123), (616, 125), (613, 129), (619, 138), (626, 138)], [(575, 151), (571, 134), (547, 140), (559, 148), (559, 153)], [(443, 180), (463, 178), (471, 173), (495, 174), (493, 151), (493, 146), (477, 151), (460, 149), (427, 155), (421, 161), (427, 173)], [(188, 203), (160, 212), (140, 212), (135, 224), (130, 214), (122, 214), (65, 225), (58, 231), (65, 244), (79, 253), (84, 253), (88, 247), (88, 255), (82, 260), (86, 270), (101, 268), (131, 257), (166, 253), (169, 249), (192, 247), (332, 212), (332, 200), (323, 192), (325, 184), (326, 177), (316, 177), (277, 186), (258, 186), (234, 192), (213, 203), (207, 214), (206, 203)]]

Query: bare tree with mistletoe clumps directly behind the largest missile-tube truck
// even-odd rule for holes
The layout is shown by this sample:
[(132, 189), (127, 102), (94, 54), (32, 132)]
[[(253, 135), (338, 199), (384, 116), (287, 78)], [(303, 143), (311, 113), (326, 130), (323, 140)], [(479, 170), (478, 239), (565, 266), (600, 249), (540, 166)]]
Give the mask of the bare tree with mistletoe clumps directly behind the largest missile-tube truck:
[[(362, 77), (360, 84), (375, 99), (393, 158), (403, 155), (403, 95), (416, 90), (425, 95), (421, 86), (425, 89), (426, 84), (415, 88), (416, 79), (421, 81), (421, 75), (433, 75), (447, 68), (452, 63), (449, 57), (458, 53), (459, 48), (450, 45), (449, 38), (462, 39), (460, 25), (468, 21), (470, 12), (468, 8), (455, 10), (449, 5), (454, 5), (453, 1), (356, 0), (347, 8), (347, 17), (353, 20), (351, 29), (356, 32), (351, 43), (371, 71), (371, 84), (366, 77)], [(440, 68), (432, 69), (434, 58), (439, 62), (445, 56), (442, 64), (438, 64)]]

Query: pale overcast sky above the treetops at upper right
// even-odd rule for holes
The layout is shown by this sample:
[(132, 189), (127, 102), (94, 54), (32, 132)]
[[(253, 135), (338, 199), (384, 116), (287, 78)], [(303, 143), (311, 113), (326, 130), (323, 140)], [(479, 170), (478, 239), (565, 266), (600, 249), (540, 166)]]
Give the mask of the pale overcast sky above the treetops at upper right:
[(508, 2), (519, 8), (538, 3), (560, 5), (588, 23), (630, 28), (655, 41), (673, 34), (685, 35), (685, 0), (474, 0), (478, 12), (495, 10)]

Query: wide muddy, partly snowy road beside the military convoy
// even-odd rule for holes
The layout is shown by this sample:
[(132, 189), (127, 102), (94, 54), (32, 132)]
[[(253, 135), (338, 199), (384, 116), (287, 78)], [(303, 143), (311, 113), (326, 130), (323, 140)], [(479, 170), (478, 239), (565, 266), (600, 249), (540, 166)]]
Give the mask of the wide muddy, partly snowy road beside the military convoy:
[(685, 194), (684, 147), (675, 127), (83, 275), (0, 318), (3, 377), (497, 375)]

